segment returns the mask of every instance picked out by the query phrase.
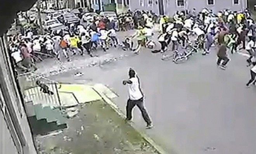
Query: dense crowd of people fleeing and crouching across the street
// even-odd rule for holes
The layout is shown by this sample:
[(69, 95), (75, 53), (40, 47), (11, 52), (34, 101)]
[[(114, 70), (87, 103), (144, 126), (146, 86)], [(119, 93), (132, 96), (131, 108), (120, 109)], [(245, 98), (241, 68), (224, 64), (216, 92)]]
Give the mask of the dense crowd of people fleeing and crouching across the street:
[[(108, 17), (100, 17), (88, 24), (70, 24), (65, 29), (52, 31), (43, 36), (34, 36), (28, 30), (25, 36), (12, 36), (9, 39), (10, 53), (16, 66), (26, 72), (31, 67), (36, 69), (35, 61), (42, 60), (42, 53), (45, 56), (52, 56), (61, 60), (61, 53), (70, 61), (70, 55), (84, 54), (93, 55), (93, 50), (98, 47), (106, 52), (110, 47), (121, 46), (123, 50), (131, 50), (138, 54), (141, 48), (155, 48), (153, 41), (153, 30), (156, 22), (159, 22), (159, 36), (161, 44), (160, 50), (166, 56), (169, 44), (172, 44), (173, 53), (186, 51), (188, 46), (196, 46), (195, 51), (202, 55), (210, 53), (211, 46), (218, 47), (217, 65), (225, 69), (229, 61), (228, 51), (231, 54), (240, 50), (246, 50), (250, 57), (246, 60), (251, 68), (251, 80), (247, 86), (256, 78), (255, 49), (256, 49), (256, 27), (254, 20), (248, 10), (236, 12), (223, 10), (214, 14), (213, 11), (203, 9), (197, 13), (195, 9), (191, 11), (177, 11), (173, 17), (165, 15), (157, 18), (152, 11), (130, 10), (118, 16), (118, 26), (116, 21), (110, 21)], [(126, 31), (136, 29), (136, 33), (127, 36), (119, 42), (116, 31)], [(137, 46), (133, 46), (133, 40), (137, 40)], [(193, 40), (193, 41), (192, 41)], [(240, 44), (242, 44), (240, 48)], [(171, 52), (170, 52), (171, 53)], [(184, 52), (185, 53), (185, 52)], [(183, 53), (181, 53), (183, 54)], [(21, 63), (24, 61), (26, 67)], [(255, 81), (254, 81), (255, 84)]]

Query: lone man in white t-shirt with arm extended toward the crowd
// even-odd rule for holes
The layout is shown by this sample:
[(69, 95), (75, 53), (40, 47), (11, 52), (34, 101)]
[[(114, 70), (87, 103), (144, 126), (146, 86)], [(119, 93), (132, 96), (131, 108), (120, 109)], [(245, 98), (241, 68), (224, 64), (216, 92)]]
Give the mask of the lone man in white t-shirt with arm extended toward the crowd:
[(140, 80), (135, 73), (135, 70), (130, 68), (129, 70), (129, 79), (123, 80), (123, 85), (128, 84), (128, 92), (129, 92), (129, 99), (126, 105), (126, 120), (130, 121), (132, 118), (131, 112), (133, 107), (136, 105), (140, 109), (143, 119), (147, 123), (147, 129), (152, 128), (152, 121), (149, 118), (147, 110), (144, 107), (143, 99), (144, 96), (140, 89)]

